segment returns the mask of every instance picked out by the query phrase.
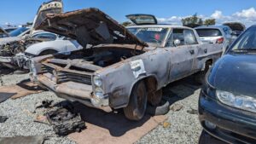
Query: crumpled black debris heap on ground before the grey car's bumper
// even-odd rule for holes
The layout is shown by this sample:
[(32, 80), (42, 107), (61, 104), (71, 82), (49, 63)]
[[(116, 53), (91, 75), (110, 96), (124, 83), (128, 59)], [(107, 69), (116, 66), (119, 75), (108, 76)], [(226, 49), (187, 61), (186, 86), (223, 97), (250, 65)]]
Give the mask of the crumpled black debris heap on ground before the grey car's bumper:
[(60, 107), (55, 111), (48, 112), (46, 117), (49, 124), (54, 126), (57, 135), (68, 135), (86, 129), (84, 121), (73, 107)]

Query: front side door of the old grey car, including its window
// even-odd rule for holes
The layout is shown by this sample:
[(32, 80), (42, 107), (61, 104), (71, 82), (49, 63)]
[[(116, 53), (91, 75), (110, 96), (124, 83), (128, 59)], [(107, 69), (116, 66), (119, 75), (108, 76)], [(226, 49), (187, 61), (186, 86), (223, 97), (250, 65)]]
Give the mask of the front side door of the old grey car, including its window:
[[(175, 41), (179, 41), (180, 43), (174, 43)], [(170, 49), (171, 55), (169, 81), (172, 82), (188, 76), (192, 71), (193, 62), (197, 53), (195, 46), (191, 44), (189, 31), (183, 28), (172, 29), (172, 36), (169, 37), (167, 46)]]

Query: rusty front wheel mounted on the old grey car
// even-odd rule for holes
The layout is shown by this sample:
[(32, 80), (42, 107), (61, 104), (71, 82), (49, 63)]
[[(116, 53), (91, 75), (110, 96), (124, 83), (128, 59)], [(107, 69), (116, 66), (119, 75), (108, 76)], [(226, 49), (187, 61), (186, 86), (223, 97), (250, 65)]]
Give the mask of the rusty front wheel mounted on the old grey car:
[(147, 109), (147, 89), (143, 81), (135, 84), (131, 91), (130, 101), (124, 108), (125, 117), (130, 120), (140, 120)]

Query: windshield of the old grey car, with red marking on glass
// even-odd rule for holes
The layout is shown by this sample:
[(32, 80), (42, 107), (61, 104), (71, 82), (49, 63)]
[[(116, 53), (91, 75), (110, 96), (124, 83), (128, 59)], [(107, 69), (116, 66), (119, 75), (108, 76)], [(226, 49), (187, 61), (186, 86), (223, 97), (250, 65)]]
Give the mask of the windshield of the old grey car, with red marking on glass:
[(143, 42), (153, 43), (157, 46), (162, 45), (168, 32), (168, 28), (161, 27), (132, 27), (128, 30)]

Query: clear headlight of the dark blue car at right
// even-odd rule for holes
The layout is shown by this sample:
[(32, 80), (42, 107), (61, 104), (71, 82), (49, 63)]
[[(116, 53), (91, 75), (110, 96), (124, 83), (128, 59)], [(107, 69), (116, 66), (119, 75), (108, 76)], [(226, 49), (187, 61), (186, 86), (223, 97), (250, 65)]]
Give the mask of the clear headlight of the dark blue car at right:
[(256, 112), (256, 99), (246, 95), (234, 95), (227, 91), (216, 90), (218, 101), (231, 107)]

